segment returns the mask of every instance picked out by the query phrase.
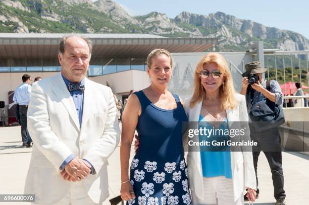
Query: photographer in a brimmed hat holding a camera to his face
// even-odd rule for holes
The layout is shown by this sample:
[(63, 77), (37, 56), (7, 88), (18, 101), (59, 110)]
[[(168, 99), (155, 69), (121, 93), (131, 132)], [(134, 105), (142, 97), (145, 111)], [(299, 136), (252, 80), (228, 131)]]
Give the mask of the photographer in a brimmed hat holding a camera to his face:
[[(250, 113), (252, 106), (265, 99), (270, 100), (276, 105), (282, 105), (282, 93), (277, 81), (270, 81), (270, 91), (267, 90), (267, 81), (263, 78), (263, 73), (267, 69), (262, 68), (260, 62), (254, 61), (245, 65), (246, 73), (242, 79), (242, 89), (240, 94), (246, 96), (247, 110)], [(254, 75), (248, 80), (249, 75)], [(249, 121), (253, 121), (249, 115)], [(250, 123), (250, 137), (254, 142), (258, 142), (258, 147), (253, 151), (253, 165), (256, 176), (256, 185), (258, 185), (258, 159), (261, 151), (264, 152), (272, 172), (272, 179), (274, 185), (274, 197), (276, 205), (285, 205), (285, 190), (283, 189), (283, 170), (282, 170), (282, 153), (280, 146), (279, 127), (273, 127), (264, 131), (256, 130)], [(259, 196), (259, 188), (256, 191), (256, 198)], [(246, 201), (246, 195), (244, 196)]]

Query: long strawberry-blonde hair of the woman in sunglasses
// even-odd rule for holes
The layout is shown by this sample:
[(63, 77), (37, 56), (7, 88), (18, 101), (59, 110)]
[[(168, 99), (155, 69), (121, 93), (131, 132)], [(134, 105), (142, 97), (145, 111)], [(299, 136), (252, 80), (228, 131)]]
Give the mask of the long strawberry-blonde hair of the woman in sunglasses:
[(217, 64), (220, 73), (223, 75), (223, 84), (219, 88), (219, 99), (221, 102), (220, 108), (222, 110), (233, 109), (238, 104), (238, 102), (235, 98), (232, 74), (225, 58), (221, 54), (214, 52), (205, 55), (196, 65), (194, 74), (194, 93), (190, 100), (190, 108), (194, 107), (206, 96), (204, 88), (201, 85), (199, 73), (203, 70), (204, 64), (210, 63)]

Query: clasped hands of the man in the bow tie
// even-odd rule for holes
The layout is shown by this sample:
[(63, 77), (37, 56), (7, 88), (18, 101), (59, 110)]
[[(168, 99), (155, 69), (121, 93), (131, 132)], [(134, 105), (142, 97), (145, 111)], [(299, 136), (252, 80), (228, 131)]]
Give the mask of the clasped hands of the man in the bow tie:
[[(76, 179), (77, 181), (80, 181), (81, 179), (84, 179), (85, 177), (87, 177), (90, 174), (91, 171), (91, 167), (90, 165), (85, 162), (84, 160), (75, 157), (73, 160), (71, 160), (71, 162), (69, 162), (66, 166), (65, 166), (65, 170), (64, 170), (70, 177), (72, 177), (73, 179)], [(66, 175), (64, 175), (64, 179)], [(70, 178), (68, 178), (70, 179)]]

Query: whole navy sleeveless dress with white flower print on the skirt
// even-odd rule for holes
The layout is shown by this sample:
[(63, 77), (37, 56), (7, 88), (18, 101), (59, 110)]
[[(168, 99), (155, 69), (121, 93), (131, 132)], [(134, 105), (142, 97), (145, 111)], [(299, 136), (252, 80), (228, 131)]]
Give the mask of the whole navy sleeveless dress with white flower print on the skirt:
[(182, 122), (188, 121), (179, 97), (177, 108), (157, 107), (143, 91), (134, 93), (141, 104), (136, 130), (139, 148), (130, 167), (136, 198), (127, 204), (191, 204), (182, 145)]

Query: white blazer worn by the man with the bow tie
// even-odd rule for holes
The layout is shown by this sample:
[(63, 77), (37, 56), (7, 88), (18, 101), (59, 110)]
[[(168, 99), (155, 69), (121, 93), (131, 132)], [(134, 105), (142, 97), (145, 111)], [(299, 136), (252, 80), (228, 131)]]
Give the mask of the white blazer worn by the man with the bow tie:
[(112, 90), (85, 78), (81, 128), (73, 98), (59, 73), (32, 85), (28, 129), (33, 151), (25, 193), (35, 202), (61, 200), (74, 182), (65, 181), (60, 166), (71, 154), (88, 160), (95, 169), (81, 180), (96, 203), (109, 196), (108, 158), (119, 144), (120, 129)]

